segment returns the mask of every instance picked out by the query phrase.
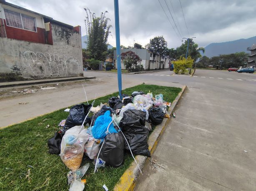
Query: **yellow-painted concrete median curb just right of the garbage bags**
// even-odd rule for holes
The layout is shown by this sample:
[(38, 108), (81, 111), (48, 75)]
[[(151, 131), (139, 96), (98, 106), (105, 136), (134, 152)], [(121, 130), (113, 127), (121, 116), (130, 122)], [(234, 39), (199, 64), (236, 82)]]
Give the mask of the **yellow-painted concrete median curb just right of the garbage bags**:
[[(150, 150), (151, 155), (155, 151), (156, 146), (161, 139), (163, 132), (166, 129), (166, 126), (169, 124), (172, 118), (173, 111), (176, 108), (179, 100), (181, 99), (181, 96), (183, 95), (186, 87), (187, 86), (183, 86), (181, 92), (178, 94), (178, 96), (173, 101), (171, 107), (168, 109), (170, 118), (164, 118), (162, 122), (163, 125), (157, 125), (151, 135), (148, 137), (148, 149)], [(149, 157), (137, 155), (135, 159), (138, 162), (138, 166), (143, 170), (143, 167), (147, 164)], [(123, 175), (120, 177), (118, 183), (114, 187), (114, 191), (132, 191), (136, 187), (140, 178), (141, 173), (135, 161), (133, 161), (130, 167), (126, 169)]]

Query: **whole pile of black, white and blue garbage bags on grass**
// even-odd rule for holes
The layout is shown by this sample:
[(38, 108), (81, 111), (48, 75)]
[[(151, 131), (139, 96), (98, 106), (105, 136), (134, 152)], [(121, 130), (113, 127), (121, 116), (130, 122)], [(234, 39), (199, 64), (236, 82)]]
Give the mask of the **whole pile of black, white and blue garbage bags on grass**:
[[(97, 106), (78, 104), (70, 108), (63, 127), (48, 140), (50, 154), (60, 154), (70, 169), (70, 190), (83, 190), (86, 180), (82, 177), (89, 163), (81, 166), (84, 157), (93, 160), (97, 168), (120, 167), (125, 152), (151, 157), (148, 135), (153, 125), (159, 125), (168, 116), (163, 95), (135, 91), (129, 95), (111, 97), (108, 103)], [(135, 158), (134, 158), (135, 160)], [(138, 167), (139, 168), (139, 167)], [(139, 168), (140, 169), (140, 168)]]

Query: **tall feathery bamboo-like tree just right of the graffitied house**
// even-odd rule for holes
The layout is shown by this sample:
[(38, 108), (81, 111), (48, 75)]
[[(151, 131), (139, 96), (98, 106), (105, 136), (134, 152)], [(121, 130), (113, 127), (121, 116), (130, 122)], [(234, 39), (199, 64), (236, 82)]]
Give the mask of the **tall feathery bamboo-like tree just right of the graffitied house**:
[(100, 17), (96, 17), (88, 8), (84, 8), (86, 12), (85, 29), (88, 35), (87, 50), (90, 52), (90, 58), (105, 61), (108, 54), (108, 35), (110, 34), (109, 18), (101, 12)]

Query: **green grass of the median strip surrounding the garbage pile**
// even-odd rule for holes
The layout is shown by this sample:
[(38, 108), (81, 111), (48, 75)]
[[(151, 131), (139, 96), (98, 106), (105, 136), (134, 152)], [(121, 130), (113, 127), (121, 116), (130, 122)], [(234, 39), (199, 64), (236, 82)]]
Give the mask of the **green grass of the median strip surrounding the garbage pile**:
[[(153, 95), (162, 93), (164, 100), (173, 102), (181, 88), (142, 84), (127, 88), (123, 93), (130, 95), (133, 91), (151, 91)], [(106, 103), (108, 98), (117, 95), (113, 93), (98, 98), (95, 105)], [(63, 110), (0, 130), (0, 190), (68, 190), (69, 169), (58, 155), (48, 153), (47, 146), (47, 140), (59, 130), (59, 122), (68, 116)], [(47, 128), (47, 125), (50, 127)], [(132, 161), (133, 158), (125, 154), (125, 162), (121, 167), (105, 167), (93, 174), (92, 161), (85, 157), (82, 165), (90, 162), (90, 168), (83, 177), (87, 180), (85, 189), (103, 190), (102, 186), (106, 184), (109, 190), (113, 190)]]

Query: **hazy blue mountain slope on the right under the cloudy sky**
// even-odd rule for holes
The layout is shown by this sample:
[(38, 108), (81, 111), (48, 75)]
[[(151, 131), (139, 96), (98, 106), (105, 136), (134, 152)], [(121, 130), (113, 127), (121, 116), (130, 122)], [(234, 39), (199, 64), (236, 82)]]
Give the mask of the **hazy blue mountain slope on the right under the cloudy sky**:
[(247, 47), (251, 47), (253, 44), (256, 44), (256, 36), (229, 42), (211, 43), (204, 47), (205, 53), (203, 56), (212, 57), (218, 56), (219, 54), (232, 54), (242, 51), (250, 53), (250, 51), (247, 51)]

